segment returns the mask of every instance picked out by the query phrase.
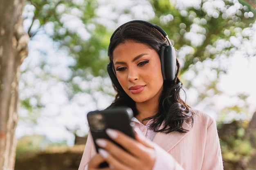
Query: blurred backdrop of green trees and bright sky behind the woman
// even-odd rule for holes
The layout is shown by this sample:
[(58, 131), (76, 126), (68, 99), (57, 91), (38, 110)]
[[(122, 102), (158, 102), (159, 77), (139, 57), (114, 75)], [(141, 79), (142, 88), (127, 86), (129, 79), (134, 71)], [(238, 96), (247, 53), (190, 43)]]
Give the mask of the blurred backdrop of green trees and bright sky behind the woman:
[(255, 0), (27, 0), (15, 170), (78, 168), (86, 113), (115, 95), (110, 36), (130, 20), (169, 35), (184, 99), (217, 121), (225, 170), (256, 170), (255, 8)]

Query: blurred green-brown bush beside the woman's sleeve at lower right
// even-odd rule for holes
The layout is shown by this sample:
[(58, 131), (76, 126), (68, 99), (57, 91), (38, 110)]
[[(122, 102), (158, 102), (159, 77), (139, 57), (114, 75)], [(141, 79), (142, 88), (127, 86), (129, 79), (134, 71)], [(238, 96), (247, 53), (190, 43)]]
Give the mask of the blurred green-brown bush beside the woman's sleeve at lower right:
[(218, 124), (222, 159), (226, 170), (247, 169), (256, 154), (252, 143), (246, 139), (248, 121)]

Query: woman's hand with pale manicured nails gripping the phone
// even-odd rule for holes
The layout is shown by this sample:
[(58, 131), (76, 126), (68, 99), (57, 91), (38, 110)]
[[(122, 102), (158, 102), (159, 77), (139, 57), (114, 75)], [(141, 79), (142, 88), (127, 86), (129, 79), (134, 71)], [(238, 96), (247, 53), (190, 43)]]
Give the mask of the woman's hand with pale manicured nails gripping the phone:
[(101, 158), (97, 154), (98, 160), (95, 162), (91, 160), (89, 166), (91, 164), (92, 168), (96, 167), (102, 159), (105, 159), (112, 170), (152, 170), (155, 163), (155, 150), (150, 141), (139, 137), (137, 133), (135, 133), (136, 140), (113, 129), (107, 129), (106, 133), (126, 151), (106, 139), (97, 139), (97, 144), (103, 148), (99, 150)]

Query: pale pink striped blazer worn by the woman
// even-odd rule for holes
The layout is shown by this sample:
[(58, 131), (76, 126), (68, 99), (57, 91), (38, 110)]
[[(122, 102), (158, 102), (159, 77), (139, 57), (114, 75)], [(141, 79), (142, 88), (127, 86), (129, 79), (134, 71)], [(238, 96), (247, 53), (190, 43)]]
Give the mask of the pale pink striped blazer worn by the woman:
[[(201, 111), (193, 110), (193, 112), (193, 126), (189, 126), (187, 123), (184, 123), (182, 126), (184, 129), (189, 130), (189, 132), (157, 133), (155, 135), (153, 142), (172, 156), (168, 157), (170, 159), (169, 164), (171, 165), (167, 165), (168, 167), (165, 166), (164, 169), (223, 170), (220, 142), (215, 120)], [(89, 133), (79, 170), (84, 170), (85, 165), (95, 154), (96, 150), (92, 136)]]

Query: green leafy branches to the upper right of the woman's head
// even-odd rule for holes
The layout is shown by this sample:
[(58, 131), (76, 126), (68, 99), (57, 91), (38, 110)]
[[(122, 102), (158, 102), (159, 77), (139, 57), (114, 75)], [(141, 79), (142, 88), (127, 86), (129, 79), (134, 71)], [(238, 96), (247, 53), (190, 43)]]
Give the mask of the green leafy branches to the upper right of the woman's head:
[[(156, 14), (152, 21), (166, 30), (166, 33), (175, 43), (175, 48), (180, 50), (185, 46), (193, 47), (193, 51), (184, 57), (182, 73), (186, 72), (190, 65), (199, 61), (215, 59), (223, 53), (228, 57), (231, 49), (238, 47), (230, 44), (220, 48), (218, 42), (220, 40), (229, 41), (232, 36), (242, 36), (247, 39), (247, 35), (241, 34), (241, 30), (252, 26), (256, 19), (256, 15), (254, 17), (243, 15), (252, 11), (252, 8), (248, 8), (248, 3), (244, 4), (245, 6), (240, 4), (240, 8), (237, 9), (238, 4), (233, 4), (229, 0), (224, 0), (222, 5), (216, 5), (216, 7), (212, 3), (220, 2), (203, 1), (194, 7), (181, 6), (177, 9), (175, 4), (166, 6), (167, 1), (150, 1)], [(230, 14), (232, 8), (236, 9), (233, 11), (233, 15)], [(195, 44), (193, 39), (186, 37), (186, 33), (193, 33), (202, 41)]]

